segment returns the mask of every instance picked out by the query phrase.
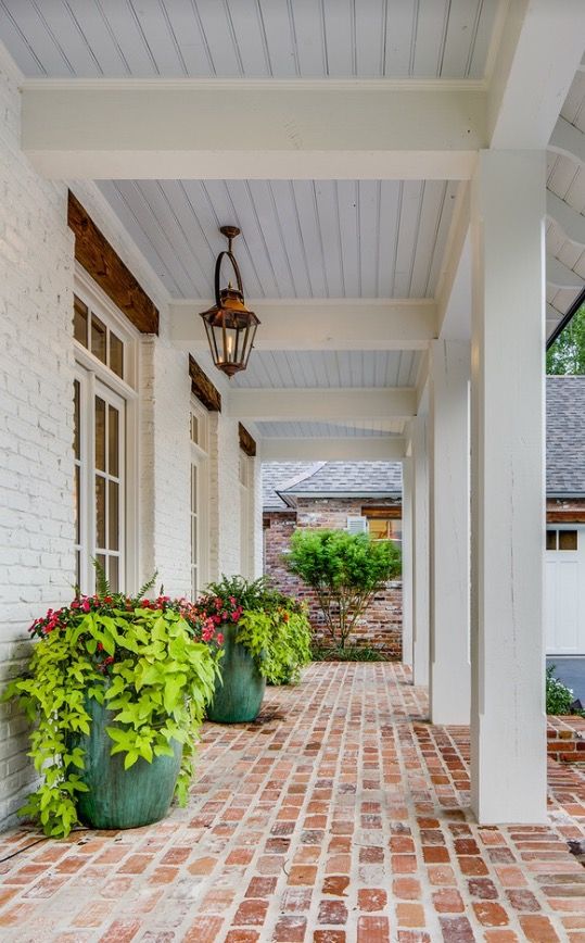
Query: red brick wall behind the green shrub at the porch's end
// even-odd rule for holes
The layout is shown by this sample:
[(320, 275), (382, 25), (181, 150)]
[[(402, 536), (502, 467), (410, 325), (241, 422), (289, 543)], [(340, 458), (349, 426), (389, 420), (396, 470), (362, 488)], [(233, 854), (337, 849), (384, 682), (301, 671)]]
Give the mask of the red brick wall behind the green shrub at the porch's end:
[[(327, 644), (329, 636), (313, 590), (287, 569), (283, 554), (289, 549), (296, 527), (345, 528), (347, 515), (359, 515), (367, 505), (377, 507), (391, 502), (364, 499), (300, 498), (296, 511), (275, 511), (264, 514), (264, 569), (275, 584), (289, 595), (304, 600), (317, 641)], [(378, 593), (359, 620), (351, 642), (379, 649), (389, 657), (402, 658), (402, 582), (389, 583)]]

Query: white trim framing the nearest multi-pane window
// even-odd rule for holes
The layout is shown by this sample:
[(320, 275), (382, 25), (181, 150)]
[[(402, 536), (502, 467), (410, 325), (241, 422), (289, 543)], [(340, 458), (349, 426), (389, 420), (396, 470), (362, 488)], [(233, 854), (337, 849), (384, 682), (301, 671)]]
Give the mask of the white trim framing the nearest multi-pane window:
[[(74, 293), (87, 304), (88, 309), (93, 311), (124, 342), (125, 357), (125, 376), (126, 379), (120, 379), (113, 370), (102, 363), (91, 351), (85, 348), (79, 341), (73, 340), (75, 360), (79, 367), (85, 368), (88, 375), (88, 401), (84, 404), (84, 408), (89, 410), (89, 403), (93, 402), (96, 393), (96, 379), (99, 379), (105, 387), (109, 387), (114, 393), (125, 400), (125, 433), (126, 448), (125, 457), (126, 464), (124, 469), (125, 494), (124, 502), (124, 528), (125, 528), (125, 545), (122, 553), (124, 559), (124, 569), (120, 571), (120, 589), (125, 592), (136, 592), (138, 590), (138, 573), (139, 573), (139, 488), (140, 480), (140, 456), (139, 456), (139, 427), (140, 427), (140, 403), (138, 390), (140, 386), (140, 369), (139, 369), (139, 341), (140, 331), (128, 322), (128, 318), (115, 306), (113, 301), (105, 294), (104, 291), (97, 285), (93, 279), (85, 272), (85, 269), (76, 262)], [(77, 376), (77, 374), (76, 374)], [(78, 378), (78, 377), (77, 377)], [(86, 415), (88, 413), (86, 412)], [(81, 442), (81, 449), (84, 443)], [(92, 461), (92, 444), (85, 443), (86, 456), (88, 461)], [(87, 505), (84, 510), (84, 505)], [(81, 520), (88, 528), (88, 533), (91, 541), (91, 546), (94, 546), (94, 521), (90, 514), (90, 502), (87, 494), (81, 494)], [(85, 516), (84, 516), (85, 515)]]

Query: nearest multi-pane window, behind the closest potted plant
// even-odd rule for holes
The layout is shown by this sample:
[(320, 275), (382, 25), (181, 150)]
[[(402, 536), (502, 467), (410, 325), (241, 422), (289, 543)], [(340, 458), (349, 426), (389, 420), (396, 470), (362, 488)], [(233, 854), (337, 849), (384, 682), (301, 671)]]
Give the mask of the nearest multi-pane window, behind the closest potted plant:
[(136, 338), (115, 310), (75, 297), (74, 382), (76, 582), (96, 587), (93, 561), (114, 591), (131, 591), (136, 533), (129, 533), (128, 487), (133, 479), (128, 433), (133, 426)]

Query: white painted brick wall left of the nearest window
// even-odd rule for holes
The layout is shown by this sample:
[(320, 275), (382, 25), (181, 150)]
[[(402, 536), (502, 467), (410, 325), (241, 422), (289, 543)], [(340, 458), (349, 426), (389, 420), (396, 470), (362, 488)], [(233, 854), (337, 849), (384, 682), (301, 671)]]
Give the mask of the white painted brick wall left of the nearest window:
[[(66, 188), (18, 148), (20, 95), (0, 58), (0, 684), (26, 662), (28, 625), (71, 599), (73, 235)], [(0, 825), (35, 775), (26, 722), (0, 706)]]

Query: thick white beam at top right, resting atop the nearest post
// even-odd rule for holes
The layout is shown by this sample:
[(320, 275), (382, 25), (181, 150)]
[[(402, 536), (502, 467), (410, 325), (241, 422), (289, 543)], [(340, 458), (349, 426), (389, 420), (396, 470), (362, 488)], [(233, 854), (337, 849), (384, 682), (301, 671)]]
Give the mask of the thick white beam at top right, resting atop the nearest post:
[(584, 47), (583, 0), (511, 0), (489, 81), (489, 147), (546, 148)]

